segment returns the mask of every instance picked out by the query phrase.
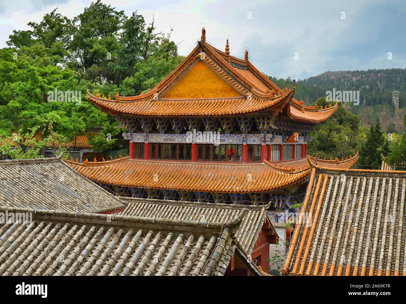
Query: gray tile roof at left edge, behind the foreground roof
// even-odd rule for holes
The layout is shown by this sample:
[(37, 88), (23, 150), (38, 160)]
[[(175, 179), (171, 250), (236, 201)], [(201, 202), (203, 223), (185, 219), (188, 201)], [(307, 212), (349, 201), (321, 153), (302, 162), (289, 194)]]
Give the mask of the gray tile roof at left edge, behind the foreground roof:
[(54, 157), (0, 161), (0, 206), (98, 213), (123, 203)]

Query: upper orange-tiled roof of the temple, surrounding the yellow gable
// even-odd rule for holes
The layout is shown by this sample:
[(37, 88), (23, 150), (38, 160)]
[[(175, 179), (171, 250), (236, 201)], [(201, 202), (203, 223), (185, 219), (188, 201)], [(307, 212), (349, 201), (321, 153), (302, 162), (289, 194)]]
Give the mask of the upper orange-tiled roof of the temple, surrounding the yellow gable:
[[(224, 96), (203, 98), (203, 95), (207, 95), (203, 94), (202, 98), (196, 98), (196, 90), (187, 87), (189, 91), (185, 88), (186, 92), (194, 91), (194, 94), (189, 94), (193, 95), (193, 98), (181, 97), (182, 90), (178, 94), (179, 98), (165, 98), (166, 93), (178, 83), (179, 79), (188, 74), (199, 62), (207, 65), (241, 96), (235, 96), (233, 93), (228, 98)], [(184, 81), (182, 85), (188, 86), (194, 82)], [(220, 88), (216, 87), (214, 91), (218, 89)], [(222, 95), (224, 94), (219, 96)], [(89, 101), (112, 115), (121, 113), (133, 116), (229, 116), (272, 109), (280, 112), (287, 105), (288, 113), (292, 112), (292, 115), (289, 116), (291, 119), (318, 123), (326, 120), (336, 109), (336, 106), (328, 110), (317, 110), (315, 107), (305, 106), (302, 112), (299, 110), (297, 113), (295, 106), (296, 103), (300, 103), (292, 99), (293, 95), (294, 82), (289, 90), (281, 90), (256, 69), (248, 59), (229, 56), (205, 41), (199, 41), (199, 45), (174, 71), (145, 94), (132, 97), (121, 97), (117, 94), (113, 100), (110, 96), (104, 98), (104, 96), (100, 97), (98, 94), (94, 96), (89, 91), (87, 92)], [(173, 94), (168, 96), (173, 96)]]

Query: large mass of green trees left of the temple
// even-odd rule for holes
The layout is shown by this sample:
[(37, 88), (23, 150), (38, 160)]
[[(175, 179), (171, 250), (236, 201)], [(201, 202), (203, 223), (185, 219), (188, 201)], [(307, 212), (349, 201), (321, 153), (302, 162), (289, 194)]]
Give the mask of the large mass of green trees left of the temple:
[[(153, 20), (147, 25), (142, 15), (127, 17), (100, 0), (73, 20), (54, 9), (28, 26), (30, 30), (14, 30), (9, 47), (0, 49), (0, 136), (18, 132), (21, 139), (13, 147), (0, 148), (13, 158), (44, 156), (45, 146), (56, 151), (55, 142), (74, 141), (83, 134), (89, 134), (95, 151), (110, 155), (123, 149), (125, 129), (116, 129), (114, 117), (87, 101), (86, 89), (106, 96), (137, 95), (183, 60), (170, 40), (172, 28), (165, 36), (156, 32)], [(80, 91), (81, 100), (49, 100), (55, 89)], [(95, 127), (102, 131), (92, 136)], [(35, 145), (27, 142), (32, 132), (41, 133)], [(111, 141), (106, 140), (108, 133)]]

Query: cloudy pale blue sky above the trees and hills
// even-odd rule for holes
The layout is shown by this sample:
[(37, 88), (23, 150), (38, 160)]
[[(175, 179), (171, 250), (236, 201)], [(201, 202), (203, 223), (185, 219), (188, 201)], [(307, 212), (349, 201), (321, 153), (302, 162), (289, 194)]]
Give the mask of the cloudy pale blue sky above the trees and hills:
[[(178, 53), (188, 55), (206, 28), (206, 41), (249, 60), (276, 78), (304, 79), (325, 71), (406, 68), (406, 0), (218, 0), (102, 1), (147, 23), (155, 14), (157, 31), (174, 31)], [(82, 13), (85, 0), (0, 0), (0, 47), (13, 30), (28, 30), (58, 7), (69, 18)], [(390, 54), (388, 54), (390, 53)], [(391, 59), (389, 59), (391, 58)]]

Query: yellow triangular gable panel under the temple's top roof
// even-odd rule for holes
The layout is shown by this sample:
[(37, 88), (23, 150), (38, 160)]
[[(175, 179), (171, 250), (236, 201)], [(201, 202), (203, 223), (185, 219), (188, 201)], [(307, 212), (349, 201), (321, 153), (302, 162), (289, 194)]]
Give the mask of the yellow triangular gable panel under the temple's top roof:
[(160, 98), (199, 99), (241, 96), (229, 83), (198, 61), (175, 85)]

